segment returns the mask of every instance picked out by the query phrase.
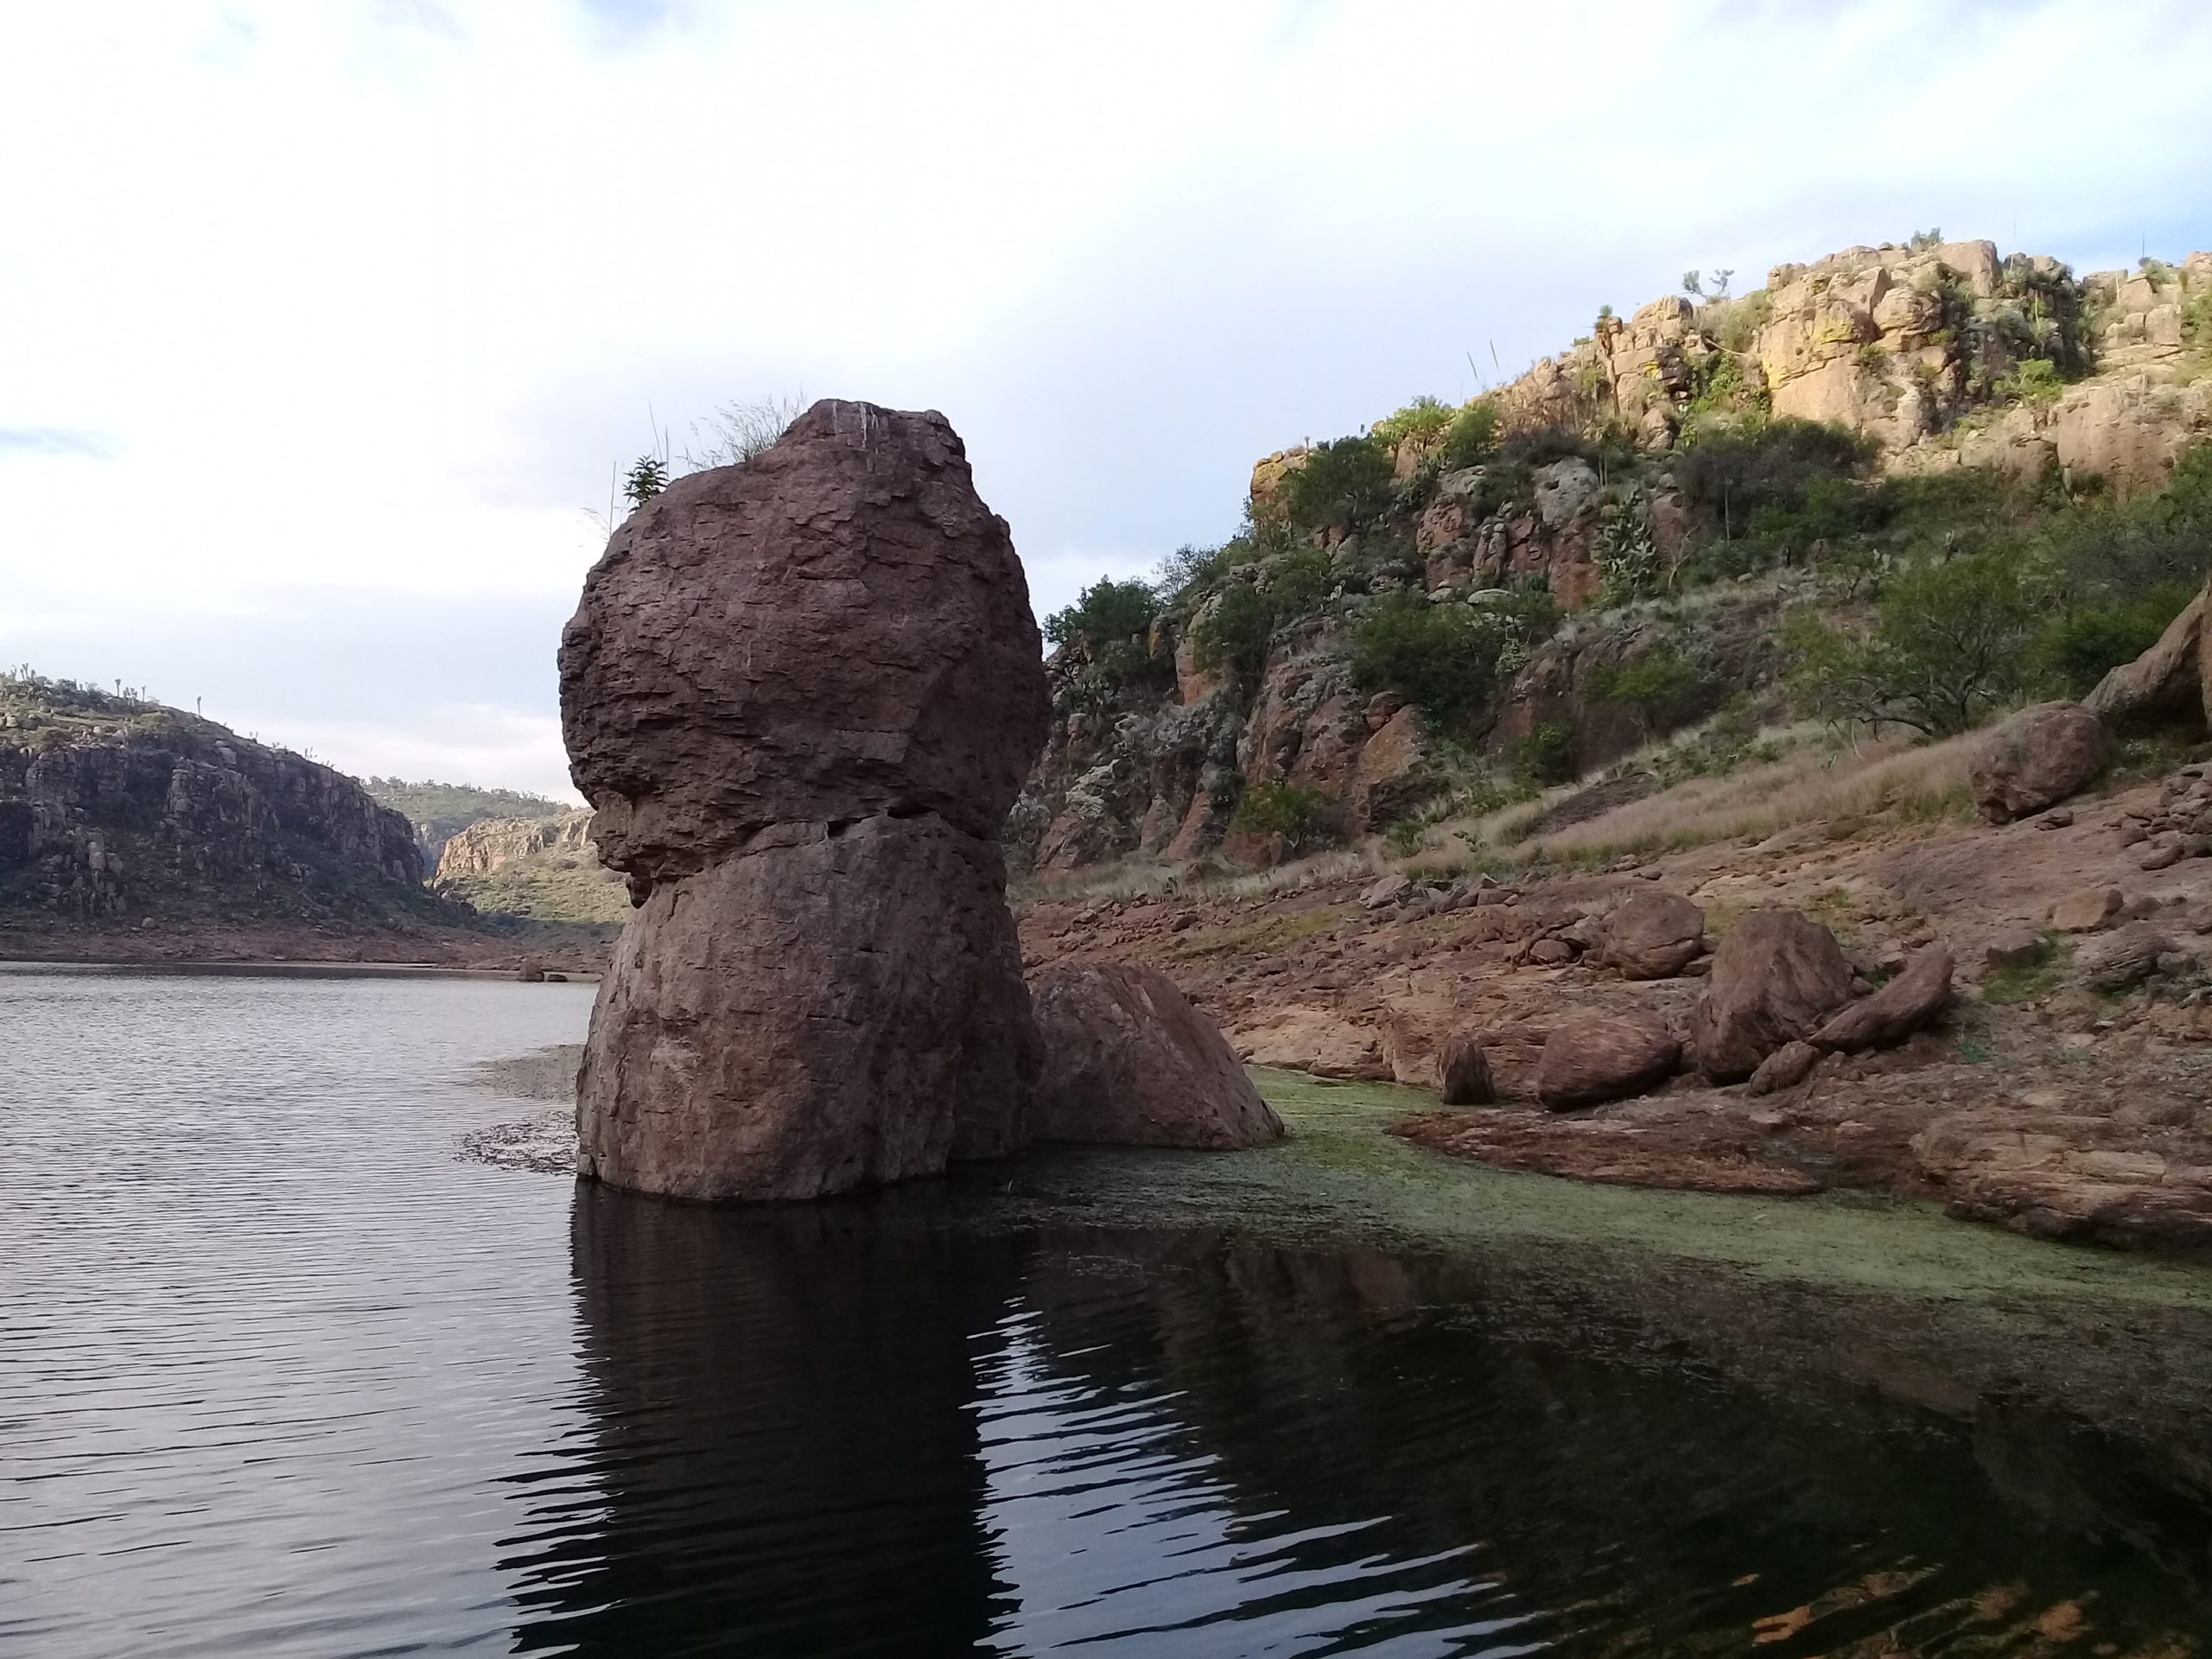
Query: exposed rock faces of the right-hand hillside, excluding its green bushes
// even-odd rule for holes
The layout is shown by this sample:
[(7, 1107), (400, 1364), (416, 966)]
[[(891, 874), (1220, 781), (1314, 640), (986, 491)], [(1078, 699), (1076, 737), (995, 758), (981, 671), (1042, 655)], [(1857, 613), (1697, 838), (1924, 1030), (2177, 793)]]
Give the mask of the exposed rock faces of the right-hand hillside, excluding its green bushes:
[[(1053, 655), (1053, 730), (1009, 849), (1046, 876), (1214, 852), (1270, 863), (1407, 821), (1467, 783), (1469, 745), (1475, 770), (1557, 781), (1732, 697), (1772, 703), (1774, 630), (1803, 597), (1787, 566), (1816, 571), (1829, 540), (1809, 529), (1778, 575), (1745, 582), (1725, 557), (1745, 504), (1697, 476), (1708, 434), (1785, 420), (1854, 434), (1843, 493), (1951, 473), (2110, 500), (2157, 489), (2212, 438), (2208, 365), (2212, 254), (2075, 276), (1989, 241), (1916, 239), (1778, 265), (1732, 299), (1608, 312), (1480, 400), (1495, 431), (1473, 458), (1453, 460), (1458, 411), (1440, 405), (1409, 431), (1378, 422), (1363, 442), (1383, 447), (1387, 478), (1354, 522), (1294, 522), (1298, 476), (1327, 447), (1263, 458), (1248, 533), (1223, 549), (1245, 562), (1164, 593), (1141, 639), (1075, 635)], [(1871, 546), (1851, 555), (1880, 566)], [(1318, 595), (1285, 602), (1298, 560), (1318, 562)], [(1354, 672), (1352, 633), (1394, 593), (1495, 624), (1498, 686), (1451, 741), (1429, 710)], [(1230, 597), (1274, 606), (1272, 633), (1241, 666), (1201, 670), (1197, 639)], [(1679, 684), (1619, 692), (1652, 664)], [(1267, 785), (1310, 814), (1303, 836), (1281, 816), (1239, 816)]]

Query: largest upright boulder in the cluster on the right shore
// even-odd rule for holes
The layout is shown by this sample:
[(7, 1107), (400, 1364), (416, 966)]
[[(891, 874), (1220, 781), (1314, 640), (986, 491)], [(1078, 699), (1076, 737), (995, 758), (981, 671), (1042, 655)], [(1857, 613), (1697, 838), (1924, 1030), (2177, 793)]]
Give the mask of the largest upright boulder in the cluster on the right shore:
[(1851, 964), (1834, 933), (1794, 909), (1756, 909), (1712, 953), (1692, 1026), (1697, 1064), (1717, 1084), (1741, 1082), (1849, 1000)]

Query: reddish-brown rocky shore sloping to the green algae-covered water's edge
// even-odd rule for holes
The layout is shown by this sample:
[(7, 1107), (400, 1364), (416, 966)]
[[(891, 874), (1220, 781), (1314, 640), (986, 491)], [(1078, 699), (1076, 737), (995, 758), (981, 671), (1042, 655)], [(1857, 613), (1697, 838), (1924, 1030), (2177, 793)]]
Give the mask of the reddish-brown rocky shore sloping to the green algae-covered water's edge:
[[(1867, 1188), (2035, 1237), (2212, 1256), (2212, 860), (2163, 856), (2157, 832), (2201, 774), (2008, 825), (1807, 823), (1502, 883), (1318, 865), (1256, 891), (1046, 894), (1020, 914), (1024, 964), (1150, 962), (1248, 1064), (1318, 1077), (1438, 1091), (1453, 1042), (1475, 1044), (1495, 1104), (1438, 1102), (1396, 1126), (1453, 1157), (1705, 1192)], [(1889, 1046), (1796, 1044), (1794, 1075), (1725, 1084), (1668, 1064), (1626, 1099), (1553, 1110), (1546, 1046), (1584, 1048), (1577, 1022), (1641, 1022), (1697, 1053), (1714, 958), (1630, 978), (1601, 945), (1648, 894), (1694, 905), (1703, 942), (1763, 909), (1818, 918), (1854, 1013), (1916, 956), (1944, 953), (1962, 984)]]

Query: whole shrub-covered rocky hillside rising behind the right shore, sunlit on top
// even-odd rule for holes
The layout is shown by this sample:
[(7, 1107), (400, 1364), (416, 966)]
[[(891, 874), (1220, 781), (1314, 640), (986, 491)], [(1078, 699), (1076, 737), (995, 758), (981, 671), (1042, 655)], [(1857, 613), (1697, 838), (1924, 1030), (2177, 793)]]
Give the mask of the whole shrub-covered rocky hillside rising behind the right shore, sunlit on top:
[(2212, 434), (2212, 254), (2075, 276), (1931, 232), (1703, 288), (1267, 456), (1234, 540), (1053, 617), (1018, 867), (1409, 852), (1792, 717), (1947, 737), (2081, 695), (2203, 577), (2212, 465), (2170, 480)]

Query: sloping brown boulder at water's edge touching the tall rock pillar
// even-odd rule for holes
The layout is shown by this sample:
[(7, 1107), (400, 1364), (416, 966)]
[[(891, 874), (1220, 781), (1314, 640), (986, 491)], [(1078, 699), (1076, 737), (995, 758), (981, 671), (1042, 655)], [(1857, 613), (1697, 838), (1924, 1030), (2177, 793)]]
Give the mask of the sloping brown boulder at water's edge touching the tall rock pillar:
[(1040, 1141), (1259, 1146), (1283, 1119), (1228, 1040), (1159, 969), (1075, 962), (1031, 987), (1044, 1077), (1029, 1115)]

